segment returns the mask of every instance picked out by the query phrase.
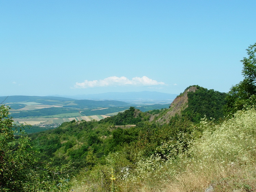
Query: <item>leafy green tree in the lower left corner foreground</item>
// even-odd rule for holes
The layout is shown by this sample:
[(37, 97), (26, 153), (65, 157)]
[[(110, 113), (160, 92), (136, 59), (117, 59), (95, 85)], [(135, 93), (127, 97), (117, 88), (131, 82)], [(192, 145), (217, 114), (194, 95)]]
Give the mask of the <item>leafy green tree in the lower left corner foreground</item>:
[[(14, 124), (9, 117), (9, 107), (0, 106), (0, 191), (63, 191), (68, 185), (63, 168), (53, 167), (50, 162), (41, 163), (35, 157), (37, 151), (30, 147), (30, 138), (23, 127)], [(21, 133), (18, 138), (15, 132)], [(64, 183), (64, 182), (63, 182)]]

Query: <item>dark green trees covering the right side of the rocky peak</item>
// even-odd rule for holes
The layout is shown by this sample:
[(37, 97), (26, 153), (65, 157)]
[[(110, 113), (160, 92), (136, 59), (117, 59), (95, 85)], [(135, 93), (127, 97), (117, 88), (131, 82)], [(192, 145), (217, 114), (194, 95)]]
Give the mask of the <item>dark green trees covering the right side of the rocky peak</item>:
[(191, 117), (193, 122), (200, 122), (204, 115), (216, 120), (224, 116), (226, 93), (197, 86), (197, 90), (188, 92), (187, 96), (188, 107), (182, 111), (182, 114)]

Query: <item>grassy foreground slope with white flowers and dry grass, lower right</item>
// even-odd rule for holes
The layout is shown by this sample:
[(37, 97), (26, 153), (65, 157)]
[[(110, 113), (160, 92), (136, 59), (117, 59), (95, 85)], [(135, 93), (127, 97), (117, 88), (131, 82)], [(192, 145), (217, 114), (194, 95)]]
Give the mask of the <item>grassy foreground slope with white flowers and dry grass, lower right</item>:
[[(183, 150), (183, 142), (174, 144), (170, 140), (158, 148), (165, 151), (165, 158), (153, 154), (133, 164), (126, 158), (129, 150), (111, 153), (106, 157), (108, 164), (82, 171), (72, 181), (72, 189), (185, 192), (212, 186), (216, 192), (256, 190), (255, 110), (238, 112), (219, 125), (204, 120), (193, 129), (194, 139), (187, 150)], [(200, 137), (196, 136), (198, 130), (203, 131)], [(181, 138), (186, 139), (185, 135)], [(109, 188), (102, 188), (102, 182)]]

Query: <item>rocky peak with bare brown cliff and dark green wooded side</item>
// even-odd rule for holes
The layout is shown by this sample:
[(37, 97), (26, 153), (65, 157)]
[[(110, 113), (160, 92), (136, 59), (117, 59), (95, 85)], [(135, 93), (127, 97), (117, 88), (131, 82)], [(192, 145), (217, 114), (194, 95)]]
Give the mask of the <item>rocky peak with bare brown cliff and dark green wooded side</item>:
[(189, 86), (177, 96), (169, 109), (151, 117), (151, 120), (160, 124), (169, 123), (176, 114), (187, 116), (193, 122), (200, 122), (206, 116), (208, 119), (219, 120), (224, 116), (223, 106), (226, 93), (206, 89), (198, 85)]

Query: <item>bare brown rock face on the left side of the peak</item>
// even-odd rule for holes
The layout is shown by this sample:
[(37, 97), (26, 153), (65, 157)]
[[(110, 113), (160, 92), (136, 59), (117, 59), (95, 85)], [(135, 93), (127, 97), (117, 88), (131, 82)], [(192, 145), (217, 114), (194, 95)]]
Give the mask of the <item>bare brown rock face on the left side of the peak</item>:
[[(177, 96), (173, 102), (171, 103), (167, 112), (163, 115), (157, 115), (154, 118), (156, 122), (160, 124), (169, 123), (170, 117), (175, 116), (175, 114), (181, 114), (182, 110), (188, 107), (188, 92), (195, 92), (197, 90), (196, 86), (191, 86), (190, 88), (186, 89), (182, 94)], [(153, 120), (153, 118), (152, 118)]]

